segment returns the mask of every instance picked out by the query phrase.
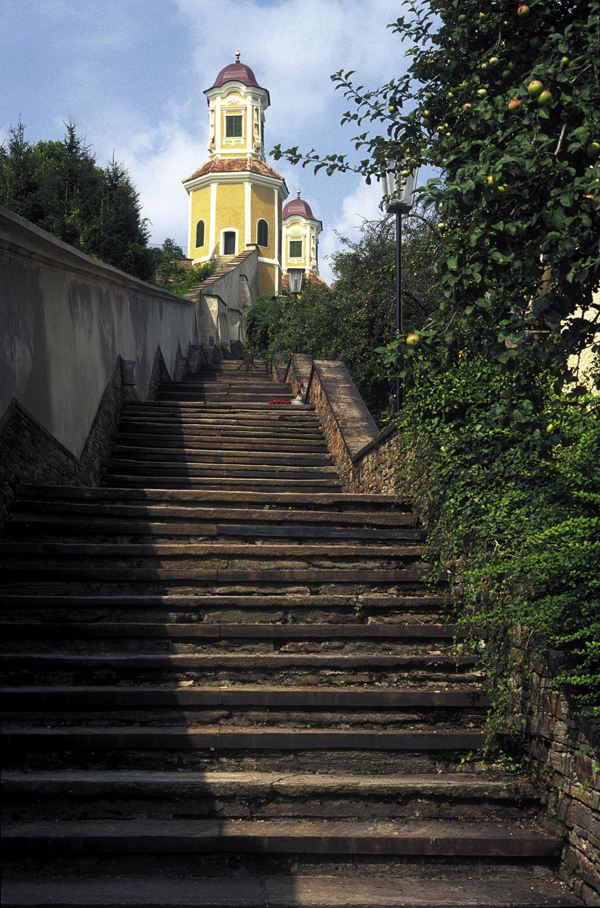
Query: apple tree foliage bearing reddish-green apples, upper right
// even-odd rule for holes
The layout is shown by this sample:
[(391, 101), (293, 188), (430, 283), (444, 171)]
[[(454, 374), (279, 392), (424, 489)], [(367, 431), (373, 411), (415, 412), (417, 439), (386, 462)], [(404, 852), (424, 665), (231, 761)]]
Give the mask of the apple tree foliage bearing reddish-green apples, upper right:
[(367, 180), (389, 160), (439, 168), (425, 201), (445, 230), (441, 368), (465, 333), (507, 362), (518, 352), (505, 341), (518, 347), (536, 329), (538, 365), (565, 377), (569, 354), (598, 340), (600, 0), (409, 6), (391, 26), (412, 43), (406, 75), (375, 91), (355, 87), (353, 72), (332, 77), (353, 104), (343, 122), (379, 131), (356, 137), (364, 160), (280, 147), (275, 156)]

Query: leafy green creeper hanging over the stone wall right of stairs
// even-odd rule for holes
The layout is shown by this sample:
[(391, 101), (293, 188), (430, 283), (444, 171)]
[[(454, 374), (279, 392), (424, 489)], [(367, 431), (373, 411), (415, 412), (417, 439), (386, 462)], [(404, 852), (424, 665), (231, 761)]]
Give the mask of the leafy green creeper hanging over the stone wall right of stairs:
[[(445, 374), (421, 357), (415, 372), (399, 422), (400, 491), (416, 488), (428, 510), (432, 574), (449, 570), (456, 583), (454, 620), (485, 661), (492, 728), (510, 713), (516, 653), (527, 665), (548, 649), (563, 653), (559, 680), (581, 710), (600, 715), (598, 399), (556, 395), (545, 370), (532, 385), (528, 363), (499, 370), (485, 351), (462, 351)], [(524, 386), (543, 456), (524, 447), (518, 420), (496, 413), (499, 400), (522, 408)]]

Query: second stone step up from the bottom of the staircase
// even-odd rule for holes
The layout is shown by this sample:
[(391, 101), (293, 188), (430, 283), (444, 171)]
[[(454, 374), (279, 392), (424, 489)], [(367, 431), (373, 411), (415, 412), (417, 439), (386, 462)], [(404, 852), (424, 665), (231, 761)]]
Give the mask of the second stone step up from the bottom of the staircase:
[(304, 854), (388, 854), (555, 858), (561, 842), (525, 825), (294, 820), (146, 820), (7, 823), (8, 855), (302, 851)]

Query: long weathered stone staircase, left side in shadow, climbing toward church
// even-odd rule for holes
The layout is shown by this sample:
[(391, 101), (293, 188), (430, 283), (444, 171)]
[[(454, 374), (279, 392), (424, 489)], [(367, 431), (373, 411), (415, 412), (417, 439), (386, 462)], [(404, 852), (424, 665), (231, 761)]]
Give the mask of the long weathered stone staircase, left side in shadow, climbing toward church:
[(581, 903), (409, 507), (224, 363), (127, 406), (104, 487), (1, 546), (4, 906)]

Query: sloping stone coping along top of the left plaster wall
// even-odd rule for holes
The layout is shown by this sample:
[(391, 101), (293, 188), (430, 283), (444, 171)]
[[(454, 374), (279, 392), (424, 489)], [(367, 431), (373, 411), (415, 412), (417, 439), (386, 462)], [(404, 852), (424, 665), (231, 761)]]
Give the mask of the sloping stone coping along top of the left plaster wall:
[(148, 284), (124, 271), (119, 271), (118, 268), (113, 268), (112, 265), (91, 258), (2, 206), (0, 206), (0, 249), (8, 256), (25, 260), (46, 270), (59, 271), (63, 274), (66, 272), (96, 284), (112, 284), (122, 290), (178, 303), (186, 308), (193, 305), (191, 300), (177, 296), (170, 290)]

